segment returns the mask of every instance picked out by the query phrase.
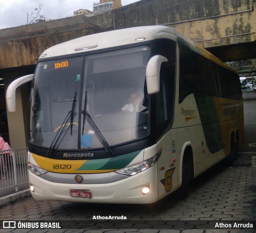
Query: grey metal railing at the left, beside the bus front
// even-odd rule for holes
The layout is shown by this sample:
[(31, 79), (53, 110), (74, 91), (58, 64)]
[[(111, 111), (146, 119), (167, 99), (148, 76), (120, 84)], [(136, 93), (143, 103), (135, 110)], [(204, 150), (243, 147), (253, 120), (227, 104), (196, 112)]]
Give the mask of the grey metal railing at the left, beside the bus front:
[(21, 186), (29, 187), (28, 183), (28, 148), (19, 148), (0, 151), (0, 194), (7, 192), (8, 188), (15, 187), (18, 192)]

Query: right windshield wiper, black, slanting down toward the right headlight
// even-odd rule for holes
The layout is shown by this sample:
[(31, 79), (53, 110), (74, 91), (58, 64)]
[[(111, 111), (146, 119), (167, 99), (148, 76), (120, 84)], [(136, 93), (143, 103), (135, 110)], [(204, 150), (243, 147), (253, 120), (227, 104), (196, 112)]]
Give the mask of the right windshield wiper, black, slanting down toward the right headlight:
[(84, 135), (84, 125), (85, 125), (85, 120), (87, 119), (89, 125), (92, 127), (92, 129), (94, 130), (94, 133), (96, 134), (96, 136), (100, 140), (100, 143), (103, 145), (103, 147), (108, 152), (108, 154), (112, 155), (113, 154), (113, 150), (110, 148), (110, 145), (108, 144), (108, 141), (105, 139), (105, 137), (100, 132), (100, 129), (94, 123), (94, 121), (93, 121), (92, 117), (90, 116), (90, 114), (86, 111), (86, 105), (87, 105), (87, 92), (85, 92), (84, 110), (82, 110), (82, 114), (84, 116), (84, 118), (83, 118), (82, 135)]

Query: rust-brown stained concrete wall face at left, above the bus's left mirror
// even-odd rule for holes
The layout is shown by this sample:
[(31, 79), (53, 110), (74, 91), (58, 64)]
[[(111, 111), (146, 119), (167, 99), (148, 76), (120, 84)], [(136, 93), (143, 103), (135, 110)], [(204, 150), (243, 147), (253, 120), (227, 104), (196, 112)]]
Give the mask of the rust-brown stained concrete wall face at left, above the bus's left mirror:
[(35, 32), (27, 32), (25, 37), (0, 42), (0, 69), (36, 64), (42, 52), (51, 46), (104, 31), (92, 23), (83, 23), (80, 24), (80, 27), (61, 32), (52, 32), (53, 29), (49, 29), (47, 33), (44, 31), (44, 34), (29, 37), (26, 37), (27, 34)]

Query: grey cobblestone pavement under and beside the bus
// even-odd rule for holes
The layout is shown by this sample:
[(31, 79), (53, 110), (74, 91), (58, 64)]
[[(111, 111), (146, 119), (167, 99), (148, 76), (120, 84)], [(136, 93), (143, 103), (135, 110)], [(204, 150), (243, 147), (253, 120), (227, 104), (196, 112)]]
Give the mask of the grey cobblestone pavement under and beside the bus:
[[(252, 94), (256, 96), (256, 92)], [(230, 226), (228, 229), (214, 228), (216, 223), (224, 221), (232, 223), (233, 226), (241, 220), (246, 223), (256, 220), (256, 153), (255, 148), (249, 146), (249, 143), (256, 142), (256, 100), (250, 98), (252, 94), (244, 94), (245, 98), (248, 97), (244, 104), (247, 136), (244, 150), (234, 166), (216, 165), (210, 168), (190, 183), (189, 196), (186, 199), (177, 199), (174, 193), (150, 205), (110, 205), (36, 201), (28, 197), (1, 207), (0, 220), (54, 220), (60, 221), (61, 226), (66, 226), (67, 229), (2, 229), (0, 233), (256, 232), (255, 225), (254, 229), (230, 229)], [(127, 220), (92, 220), (94, 216), (109, 215), (125, 216)], [(79, 229), (83, 224), (90, 225), (91, 229)]]

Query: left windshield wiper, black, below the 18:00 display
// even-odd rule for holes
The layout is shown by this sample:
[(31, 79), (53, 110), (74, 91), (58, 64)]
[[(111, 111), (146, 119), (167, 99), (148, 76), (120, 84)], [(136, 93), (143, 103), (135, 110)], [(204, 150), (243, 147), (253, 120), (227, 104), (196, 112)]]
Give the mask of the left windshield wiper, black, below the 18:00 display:
[(50, 147), (47, 151), (48, 156), (52, 153), (52, 150), (56, 147), (56, 145), (57, 145), (58, 141), (60, 140), (60, 137), (61, 137), (62, 133), (64, 132), (64, 129), (65, 129), (66, 125), (68, 124), (69, 120), (70, 120), (70, 130), (71, 130), (70, 135), (72, 135), (72, 126), (73, 126), (75, 104), (76, 104), (76, 92), (75, 92), (74, 100), (72, 102), (72, 108), (68, 112), (68, 115), (66, 116), (64, 121), (62, 122), (62, 124), (61, 124), (60, 128), (58, 129), (54, 139), (52, 140), (52, 144), (50, 145)]

